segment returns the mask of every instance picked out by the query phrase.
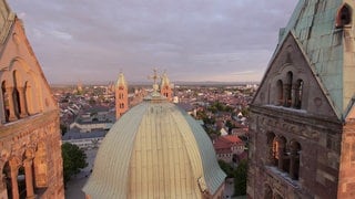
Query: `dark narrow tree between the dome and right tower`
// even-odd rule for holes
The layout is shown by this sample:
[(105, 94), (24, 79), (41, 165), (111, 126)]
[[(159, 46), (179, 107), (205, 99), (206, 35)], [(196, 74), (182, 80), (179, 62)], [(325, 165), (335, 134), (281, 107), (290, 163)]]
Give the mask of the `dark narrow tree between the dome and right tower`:
[(234, 195), (246, 195), (247, 161), (242, 160), (234, 171)]

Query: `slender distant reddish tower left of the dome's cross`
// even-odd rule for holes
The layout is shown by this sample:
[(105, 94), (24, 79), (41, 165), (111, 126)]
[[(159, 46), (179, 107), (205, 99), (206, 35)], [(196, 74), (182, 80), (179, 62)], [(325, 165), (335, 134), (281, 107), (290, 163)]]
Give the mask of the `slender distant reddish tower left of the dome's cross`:
[(119, 119), (129, 109), (129, 86), (123, 73), (115, 85), (115, 118)]

